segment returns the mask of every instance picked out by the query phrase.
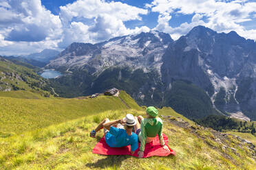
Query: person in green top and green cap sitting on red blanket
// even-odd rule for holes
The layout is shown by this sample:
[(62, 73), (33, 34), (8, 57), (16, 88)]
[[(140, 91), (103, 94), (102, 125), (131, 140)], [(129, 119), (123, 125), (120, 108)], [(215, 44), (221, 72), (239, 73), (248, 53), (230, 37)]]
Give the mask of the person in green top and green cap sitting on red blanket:
[(165, 151), (170, 151), (169, 147), (165, 145), (162, 137), (162, 119), (158, 116), (158, 110), (153, 106), (149, 106), (146, 110), (147, 118), (142, 116), (135, 117), (137, 124), (135, 125), (136, 134), (140, 141), (140, 151), (138, 157), (143, 158), (146, 143), (150, 143), (158, 134), (160, 144)]

